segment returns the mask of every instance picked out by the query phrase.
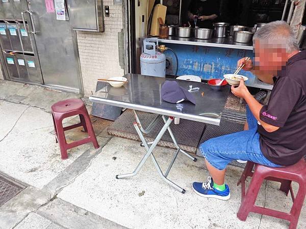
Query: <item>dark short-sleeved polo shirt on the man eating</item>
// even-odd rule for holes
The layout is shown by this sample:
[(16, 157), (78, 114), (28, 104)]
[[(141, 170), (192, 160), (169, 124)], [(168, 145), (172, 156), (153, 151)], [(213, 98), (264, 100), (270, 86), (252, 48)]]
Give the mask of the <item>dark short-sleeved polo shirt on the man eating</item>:
[(260, 147), (267, 159), (291, 165), (306, 155), (306, 50), (293, 55), (279, 72), (260, 119), (279, 127), (267, 132), (258, 125)]

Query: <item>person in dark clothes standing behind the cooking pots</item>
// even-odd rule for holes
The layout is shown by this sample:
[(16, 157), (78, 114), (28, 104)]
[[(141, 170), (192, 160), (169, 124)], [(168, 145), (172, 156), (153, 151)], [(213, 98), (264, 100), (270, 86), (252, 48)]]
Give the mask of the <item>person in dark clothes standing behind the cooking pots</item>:
[(200, 28), (213, 28), (218, 16), (218, 0), (192, 0), (188, 8), (188, 18)]

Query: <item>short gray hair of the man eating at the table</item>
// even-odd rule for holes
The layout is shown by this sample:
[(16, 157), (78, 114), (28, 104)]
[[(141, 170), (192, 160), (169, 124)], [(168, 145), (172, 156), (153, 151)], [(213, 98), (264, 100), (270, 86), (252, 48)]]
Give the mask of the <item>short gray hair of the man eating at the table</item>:
[(272, 21), (261, 27), (253, 36), (253, 40), (263, 40), (268, 44), (286, 45), (286, 52), (299, 50), (299, 45), (289, 24), (285, 21)]

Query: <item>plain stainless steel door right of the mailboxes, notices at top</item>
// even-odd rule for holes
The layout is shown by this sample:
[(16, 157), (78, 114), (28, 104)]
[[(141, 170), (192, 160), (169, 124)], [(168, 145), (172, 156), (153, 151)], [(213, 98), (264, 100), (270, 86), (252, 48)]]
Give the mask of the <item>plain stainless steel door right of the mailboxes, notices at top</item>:
[(56, 20), (55, 13), (47, 13), (44, 0), (31, 0), (36, 30), (34, 35), (44, 84), (80, 89), (77, 46), (69, 21)]

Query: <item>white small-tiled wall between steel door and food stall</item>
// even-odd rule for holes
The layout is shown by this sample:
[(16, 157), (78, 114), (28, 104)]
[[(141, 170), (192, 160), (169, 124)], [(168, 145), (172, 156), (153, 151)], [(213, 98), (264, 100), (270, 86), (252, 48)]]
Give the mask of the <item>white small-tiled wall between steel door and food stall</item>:
[[(110, 7), (110, 17), (105, 17), (105, 32), (77, 31), (79, 55), (86, 97), (95, 92), (98, 78), (122, 76), (123, 65), (119, 64), (118, 33), (123, 31), (123, 13), (121, 5), (113, 5), (113, 0), (104, 0), (104, 6)], [(119, 48), (120, 46), (120, 48)]]

